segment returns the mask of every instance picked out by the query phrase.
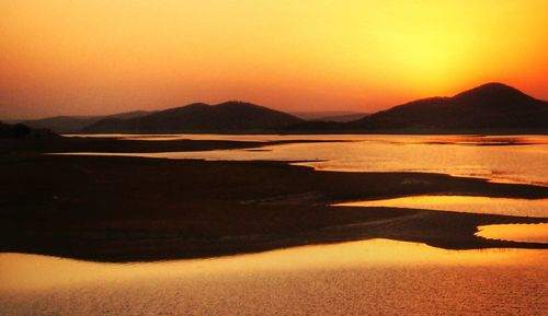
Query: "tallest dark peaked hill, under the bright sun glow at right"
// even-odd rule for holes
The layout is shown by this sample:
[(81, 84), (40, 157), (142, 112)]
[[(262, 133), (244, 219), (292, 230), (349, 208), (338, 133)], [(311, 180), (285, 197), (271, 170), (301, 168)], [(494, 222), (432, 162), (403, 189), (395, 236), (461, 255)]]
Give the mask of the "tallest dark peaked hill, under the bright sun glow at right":
[(453, 97), (413, 101), (345, 126), (351, 130), (548, 129), (548, 103), (502, 84), (488, 83)]

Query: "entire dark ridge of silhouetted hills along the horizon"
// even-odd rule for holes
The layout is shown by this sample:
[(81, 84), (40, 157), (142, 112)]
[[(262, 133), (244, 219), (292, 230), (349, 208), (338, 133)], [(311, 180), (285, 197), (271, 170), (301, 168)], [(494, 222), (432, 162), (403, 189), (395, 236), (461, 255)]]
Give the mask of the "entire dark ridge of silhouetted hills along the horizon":
[[(78, 131), (85, 133), (548, 133), (548, 103), (492, 82), (450, 97), (416, 100), (358, 119), (307, 120), (230, 101), (217, 105), (193, 103), (152, 113), (56, 117), (25, 124), (66, 132), (68, 125), (64, 120), (72, 124), (72, 130), (79, 127)], [(60, 130), (62, 127), (65, 130)]]

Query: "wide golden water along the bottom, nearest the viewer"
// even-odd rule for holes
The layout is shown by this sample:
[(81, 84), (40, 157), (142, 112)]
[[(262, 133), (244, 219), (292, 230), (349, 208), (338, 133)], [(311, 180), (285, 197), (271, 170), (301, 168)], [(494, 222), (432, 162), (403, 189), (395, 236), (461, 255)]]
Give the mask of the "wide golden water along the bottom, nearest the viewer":
[(373, 239), (138, 265), (0, 255), (2, 315), (547, 315), (548, 251)]

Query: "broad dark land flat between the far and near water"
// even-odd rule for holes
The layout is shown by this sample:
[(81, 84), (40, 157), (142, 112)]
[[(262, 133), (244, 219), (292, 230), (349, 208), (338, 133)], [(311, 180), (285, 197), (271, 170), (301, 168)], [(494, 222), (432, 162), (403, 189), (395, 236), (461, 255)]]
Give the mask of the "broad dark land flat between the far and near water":
[[(213, 144), (187, 142), (186, 150), (219, 147), (219, 142)], [(174, 145), (160, 142), (155, 150)], [(39, 154), (55, 147), (47, 141), (42, 148), (30, 143), (19, 147), (14, 150), (11, 141), (0, 144), (0, 251), (134, 261), (375, 237), (453, 249), (548, 248), (547, 244), (473, 235), (478, 225), (548, 219), (330, 207), (341, 201), (420, 194), (535, 199), (548, 197), (545, 187), (438, 174), (317, 172), (278, 162)]]

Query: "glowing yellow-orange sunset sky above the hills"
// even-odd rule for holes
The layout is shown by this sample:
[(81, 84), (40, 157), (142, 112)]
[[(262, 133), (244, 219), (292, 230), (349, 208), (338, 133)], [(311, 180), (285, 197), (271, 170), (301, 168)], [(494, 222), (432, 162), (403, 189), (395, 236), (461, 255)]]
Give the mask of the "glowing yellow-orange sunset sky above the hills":
[(0, 0), (0, 118), (247, 101), (375, 112), (504, 82), (548, 100), (548, 1)]

